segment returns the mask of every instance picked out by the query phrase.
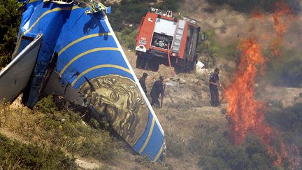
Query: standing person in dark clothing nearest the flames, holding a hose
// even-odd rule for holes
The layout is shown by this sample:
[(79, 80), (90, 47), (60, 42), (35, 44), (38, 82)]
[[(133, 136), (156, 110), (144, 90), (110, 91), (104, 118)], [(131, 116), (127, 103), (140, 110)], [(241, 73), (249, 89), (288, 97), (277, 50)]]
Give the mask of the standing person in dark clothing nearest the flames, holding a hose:
[(220, 69), (216, 68), (214, 73), (210, 75), (210, 95), (211, 95), (211, 106), (219, 106), (219, 92), (218, 87), (220, 87), (219, 81)]

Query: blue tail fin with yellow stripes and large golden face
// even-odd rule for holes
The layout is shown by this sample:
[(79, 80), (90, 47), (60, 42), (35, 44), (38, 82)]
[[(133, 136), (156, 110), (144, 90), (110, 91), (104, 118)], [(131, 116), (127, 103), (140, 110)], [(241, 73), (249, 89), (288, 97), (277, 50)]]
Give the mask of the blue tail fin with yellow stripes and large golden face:
[(57, 73), (141, 155), (164, 157), (164, 131), (103, 13), (76, 10), (62, 27)]

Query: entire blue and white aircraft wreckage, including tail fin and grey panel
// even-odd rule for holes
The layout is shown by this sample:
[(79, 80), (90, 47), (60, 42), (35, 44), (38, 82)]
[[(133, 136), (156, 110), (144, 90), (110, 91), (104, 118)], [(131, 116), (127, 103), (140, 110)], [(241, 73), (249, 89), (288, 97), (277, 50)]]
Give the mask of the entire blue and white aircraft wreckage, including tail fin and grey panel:
[(164, 131), (124, 55), (101, 3), (19, 0), (22, 20), (13, 60), (0, 72), (0, 101), (23, 93), (32, 108), (43, 94), (64, 96), (106, 116), (122, 138), (162, 162)]

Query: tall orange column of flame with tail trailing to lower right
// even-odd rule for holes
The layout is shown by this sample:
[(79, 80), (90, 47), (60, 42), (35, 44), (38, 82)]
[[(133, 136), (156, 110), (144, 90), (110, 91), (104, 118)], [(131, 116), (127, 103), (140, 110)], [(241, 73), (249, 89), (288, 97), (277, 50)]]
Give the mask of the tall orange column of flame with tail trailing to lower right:
[(240, 145), (245, 141), (247, 133), (257, 135), (266, 144), (268, 153), (277, 157), (274, 164), (282, 164), (282, 157), (288, 157), (285, 144), (280, 142), (280, 152), (271, 145), (278, 132), (264, 120), (264, 103), (254, 99), (255, 78), (259, 71), (264, 70), (267, 60), (261, 53), (259, 43), (252, 38), (244, 40), (240, 50), (242, 56), (236, 79), (225, 92), (231, 136)]

